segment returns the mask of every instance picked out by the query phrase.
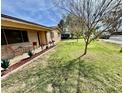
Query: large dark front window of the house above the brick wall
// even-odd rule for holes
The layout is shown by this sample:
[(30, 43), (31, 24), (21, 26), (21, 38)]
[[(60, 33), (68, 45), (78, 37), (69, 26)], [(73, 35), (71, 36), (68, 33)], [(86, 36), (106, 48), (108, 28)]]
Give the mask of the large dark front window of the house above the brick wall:
[[(5, 37), (7, 42), (5, 41)], [(21, 30), (2, 29), (1, 39), (2, 45), (28, 42), (27, 32)]]

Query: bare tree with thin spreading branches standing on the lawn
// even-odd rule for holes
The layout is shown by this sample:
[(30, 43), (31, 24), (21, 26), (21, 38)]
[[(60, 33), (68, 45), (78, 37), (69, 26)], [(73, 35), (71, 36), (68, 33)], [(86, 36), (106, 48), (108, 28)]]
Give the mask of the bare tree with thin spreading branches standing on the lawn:
[[(115, 31), (112, 30), (113, 27), (117, 25), (116, 29), (119, 29), (118, 25), (121, 24), (121, 0), (59, 0), (58, 2), (60, 2), (59, 8), (76, 16), (79, 18), (78, 24), (83, 24), (82, 37), (85, 48), (79, 58), (86, 55), (88, 45), (100, 34), (110, 31), (110, 29), (113, 32)], [(113, 17), (112, 22), (105, 21), (110, 13), (117, 14), (118, 12), (118, 16)]]

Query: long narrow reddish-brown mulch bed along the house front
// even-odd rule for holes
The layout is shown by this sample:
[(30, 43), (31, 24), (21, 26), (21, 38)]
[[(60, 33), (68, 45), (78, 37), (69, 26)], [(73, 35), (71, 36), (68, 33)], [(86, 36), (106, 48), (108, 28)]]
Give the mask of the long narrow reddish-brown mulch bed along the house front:
[(8, 67), (8, 69), (6, 69), (6, 70), (2, 70), (2, 71), (1, 71), (1, 76), (4, 76), (4, 75), (10, 73), (11, 71), (13, 71), (13, 70), (17, 69), (18, 67), (24, 65), (25, 63), (29, 62), (29, 61), (32, 60), (33, 58), (39, 56), (40, 54), (42, 54), (42, 53), (44, 53), (44, 52), (46, 52), (46, 51), (48, 51), (48, 50), (51, 49), (52, 47), (54, 47), (54, 46), (51, 46), (51, 47), (49, 47), (48, 49), (42, 50), (42, 51), (40, 51), (40, 52), (34, 54), (32, 57), (28, 57), (28, 58), (22, 59), (21, 61), (15, 63), (15, 64), (13, 64), (13, 65), (11, 65), (10, 67)]

